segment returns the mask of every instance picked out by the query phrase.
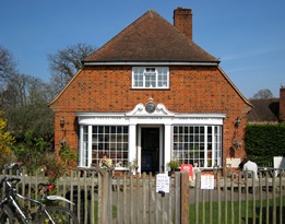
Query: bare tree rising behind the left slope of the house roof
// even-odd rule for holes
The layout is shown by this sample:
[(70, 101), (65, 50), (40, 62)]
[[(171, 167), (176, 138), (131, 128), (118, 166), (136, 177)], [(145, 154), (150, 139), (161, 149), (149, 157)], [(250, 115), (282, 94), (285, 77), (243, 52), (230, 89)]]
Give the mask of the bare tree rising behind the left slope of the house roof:
[(78, 44), (47, 56), (55, 92), (59, 93), (68, 84), (76, 71), (82, 68), (84, 58), (94, 50), (95, 48), (90, 45)]

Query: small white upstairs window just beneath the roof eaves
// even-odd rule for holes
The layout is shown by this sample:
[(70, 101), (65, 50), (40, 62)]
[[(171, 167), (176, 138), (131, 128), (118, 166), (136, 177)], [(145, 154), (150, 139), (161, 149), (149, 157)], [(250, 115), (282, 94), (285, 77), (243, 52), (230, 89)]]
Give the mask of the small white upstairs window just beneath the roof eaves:
[(168, 89), (169, 87), (168, 67), (133, 67), (132, 87), (133, 89)]

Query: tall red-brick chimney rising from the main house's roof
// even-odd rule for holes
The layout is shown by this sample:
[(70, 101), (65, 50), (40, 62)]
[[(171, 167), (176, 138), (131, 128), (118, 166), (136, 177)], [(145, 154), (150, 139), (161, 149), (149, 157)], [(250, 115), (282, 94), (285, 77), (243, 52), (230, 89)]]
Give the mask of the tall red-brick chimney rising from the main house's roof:
[(174, 26), (192, 39), (192, 10), (178, 7), (174, 11)]

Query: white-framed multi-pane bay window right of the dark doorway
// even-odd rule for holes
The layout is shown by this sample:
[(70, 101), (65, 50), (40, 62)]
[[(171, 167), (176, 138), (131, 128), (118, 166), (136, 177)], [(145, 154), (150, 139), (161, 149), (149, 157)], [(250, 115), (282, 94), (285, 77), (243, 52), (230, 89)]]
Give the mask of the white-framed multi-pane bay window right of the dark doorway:
[(175, 126), (173, 160), (205, 168), (222, 166), (222, 126)]

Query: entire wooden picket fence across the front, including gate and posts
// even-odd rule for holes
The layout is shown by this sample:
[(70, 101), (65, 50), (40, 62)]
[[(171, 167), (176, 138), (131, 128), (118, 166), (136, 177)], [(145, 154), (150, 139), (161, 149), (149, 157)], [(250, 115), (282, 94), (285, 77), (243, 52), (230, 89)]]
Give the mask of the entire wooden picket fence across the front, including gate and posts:
[[(170, 178), (169, 192), (156, 192), (155, 175), (115, 177), (112, 170), (94, 167), (60, 177), (52, 194), (74, 202), (64, 205), (76, 213), (81, 224), (282, 224), (284, 170), (277, 177), (272, 174), (269, 169), (254, 180), (221, 170), (214, 174), (214, 189), (201, 189), (203, 172), (197, 173), (193, 181), (187, 173), (177, 172)], [(21, 178), (16, 188), (29, 197), (39, 197), (37, 185), (47, 181), (41, 175)]]

